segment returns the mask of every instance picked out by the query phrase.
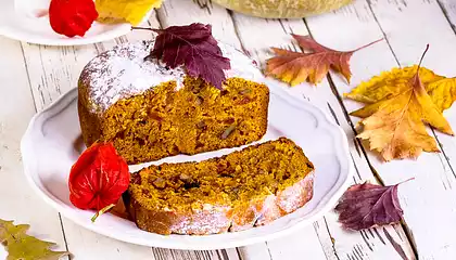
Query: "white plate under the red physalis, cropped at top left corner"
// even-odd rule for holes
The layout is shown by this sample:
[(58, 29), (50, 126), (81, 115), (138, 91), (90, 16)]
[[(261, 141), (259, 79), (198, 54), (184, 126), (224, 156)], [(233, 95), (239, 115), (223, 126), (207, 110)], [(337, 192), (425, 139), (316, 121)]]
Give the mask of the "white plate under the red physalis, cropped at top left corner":
[[(50, 0), (0, 0), (0, 36), (46, 46), (81, 46), (111, 40), (131, 30), (129, 24), (94, 22), (85, 37), (68, 38), (52, 30), (46, 12)], [(40, 16), (40, 17), (39, 17)]]

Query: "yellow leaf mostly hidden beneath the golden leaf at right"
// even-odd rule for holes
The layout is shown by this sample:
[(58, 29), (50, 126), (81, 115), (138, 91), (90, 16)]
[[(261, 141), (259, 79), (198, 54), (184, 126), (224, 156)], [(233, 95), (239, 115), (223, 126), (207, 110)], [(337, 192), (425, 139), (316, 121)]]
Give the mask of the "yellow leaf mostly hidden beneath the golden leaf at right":
[[(381, 73), (380, 76), (376, 76), (367, 82), (362, 82), (352, 92), (345, 93), (344, 96), (371, 104), (396, 95), (408, 88), (407, 83), (417, 70), (418, 65), (393, 68), (391, 72)], [(419, 78), (432, 102), (441, 112), (452, 106), (456, 100), (456, 78), (445, 78), (425, 67), (419, 68)]]

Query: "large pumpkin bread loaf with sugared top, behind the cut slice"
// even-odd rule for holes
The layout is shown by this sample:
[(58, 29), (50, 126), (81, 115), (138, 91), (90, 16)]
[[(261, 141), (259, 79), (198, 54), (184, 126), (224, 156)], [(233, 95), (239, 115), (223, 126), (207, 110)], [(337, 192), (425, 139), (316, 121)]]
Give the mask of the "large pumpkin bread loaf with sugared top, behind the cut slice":
[(264, 135), (269, 90), (248, 56), (219, 44), (232, 67), (220, 91), (181, 67), (144, 58), (153, 43), (117, 46), (84, 68), (78, 112), (86, 145), (113, 142), (128, 164), (138, 164), (236, 147)]

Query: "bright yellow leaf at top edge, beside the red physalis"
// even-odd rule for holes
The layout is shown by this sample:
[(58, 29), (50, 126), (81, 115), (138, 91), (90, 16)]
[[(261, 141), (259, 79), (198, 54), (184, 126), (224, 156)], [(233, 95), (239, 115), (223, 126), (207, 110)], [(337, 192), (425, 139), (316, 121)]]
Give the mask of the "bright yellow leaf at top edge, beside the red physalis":
[(160, 8), (163, 0), (96, 0), (96, 9), (101, 23), (141, 23), (153, 8)]

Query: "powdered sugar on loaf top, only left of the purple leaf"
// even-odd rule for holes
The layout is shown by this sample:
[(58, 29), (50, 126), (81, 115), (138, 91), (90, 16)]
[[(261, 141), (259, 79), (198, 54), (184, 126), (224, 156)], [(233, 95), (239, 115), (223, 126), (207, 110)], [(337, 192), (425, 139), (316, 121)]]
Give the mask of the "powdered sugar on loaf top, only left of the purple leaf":
[(144, 60), (152, 48), (151, 41), (121, 44), (87, 64), (80, 80), (89, 88), (93, 110), (104, 112), (121, 99), (142, 93), (162, 82), (183, 78), (185, 72), (180, 67), (168, 69), (156, 61)]

